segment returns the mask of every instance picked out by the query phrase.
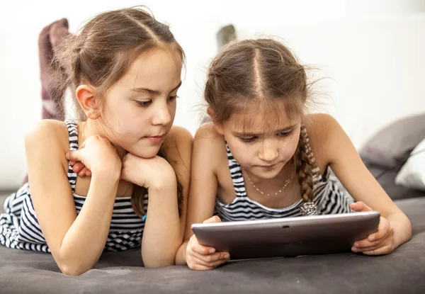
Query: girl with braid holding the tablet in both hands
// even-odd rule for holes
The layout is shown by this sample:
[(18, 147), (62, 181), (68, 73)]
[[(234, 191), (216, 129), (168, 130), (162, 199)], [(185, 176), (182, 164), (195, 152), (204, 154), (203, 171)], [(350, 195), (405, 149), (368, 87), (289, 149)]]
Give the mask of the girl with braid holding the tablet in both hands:
[[(232, 43), (212, 61), (205, 86), (212, 122), (195, 136), (177, 264), (207, 270), (231, 257), (200, 245), (191, 230), (196, 222), (378, 210), (378, 232), (352, 251), (389, 254), (410, 238), (408, 218), (341, 126), (329, 115), (306, 113), (309, 87), (305, 68), (275, 40)], [(353, 198), (339, 190), (331, 170)]]

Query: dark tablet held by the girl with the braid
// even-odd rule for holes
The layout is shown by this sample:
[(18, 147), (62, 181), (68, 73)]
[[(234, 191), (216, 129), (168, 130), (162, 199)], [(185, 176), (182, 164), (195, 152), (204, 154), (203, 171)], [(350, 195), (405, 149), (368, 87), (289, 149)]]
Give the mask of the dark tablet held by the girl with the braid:
[(231, 259), (292, 257), (351, 251), (378, 230), (380, 213), (343, 213), (193, 224), (198, 242), (229, 252)]

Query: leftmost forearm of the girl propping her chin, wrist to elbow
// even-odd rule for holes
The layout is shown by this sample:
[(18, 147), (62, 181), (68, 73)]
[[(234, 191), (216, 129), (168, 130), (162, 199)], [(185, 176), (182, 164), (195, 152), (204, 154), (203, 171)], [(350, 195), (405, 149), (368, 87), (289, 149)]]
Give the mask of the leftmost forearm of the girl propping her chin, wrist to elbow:
[(111, 225), (118, 181), (118, 176), (92, 177), (81, 212), (62, 239), (58, 264), (66, 273), (84, 273), (93, 268), (101, 256)]

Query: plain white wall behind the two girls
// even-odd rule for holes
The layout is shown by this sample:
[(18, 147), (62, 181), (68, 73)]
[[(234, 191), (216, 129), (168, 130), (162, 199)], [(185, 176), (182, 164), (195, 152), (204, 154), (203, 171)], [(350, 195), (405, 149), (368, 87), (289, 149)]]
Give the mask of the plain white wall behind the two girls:
[(425, 112), (423, 0), (7, 1), (0, 4), (0, 189), (26, 174), (23, 136), (40, 120), (38, 34), (66, 17), (70, 30), (94, 14), (145, 4), (169, 23), (187, 55), (176, 125), (195, 132), (215, 33), (233, 23), (241, 37), (276, 35), (319, 67), (327, 105), (356, 147), (387, 123)]

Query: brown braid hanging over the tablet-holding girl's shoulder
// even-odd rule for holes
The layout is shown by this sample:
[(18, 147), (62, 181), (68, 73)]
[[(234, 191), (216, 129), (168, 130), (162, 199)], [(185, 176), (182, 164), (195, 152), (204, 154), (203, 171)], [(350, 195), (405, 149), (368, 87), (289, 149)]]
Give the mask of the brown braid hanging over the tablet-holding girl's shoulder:
[(304, 125), (301, 126), (295, 162), (298, 181), (301, 187), (302, 200), (304, 200), (305, 203), (312, 202), (314, 199), (313, 175), (316, 164), (314, 162), (314, 157), (312, 157), (310, 142)]

